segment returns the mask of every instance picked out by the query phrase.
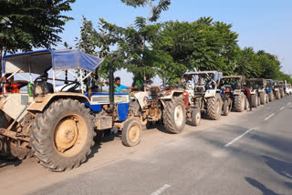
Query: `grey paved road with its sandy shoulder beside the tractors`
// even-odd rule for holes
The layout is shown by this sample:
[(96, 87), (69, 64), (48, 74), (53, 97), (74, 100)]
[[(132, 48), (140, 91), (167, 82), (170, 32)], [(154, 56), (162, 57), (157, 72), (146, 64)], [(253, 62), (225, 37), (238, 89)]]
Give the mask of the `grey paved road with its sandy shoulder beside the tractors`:
[(183, 134), (151, 129), (137, 147), (102, 140), (87, 163), (52, 173), (0, 161), (0, 194), (292, 194), (292, 97), (203, 120)]

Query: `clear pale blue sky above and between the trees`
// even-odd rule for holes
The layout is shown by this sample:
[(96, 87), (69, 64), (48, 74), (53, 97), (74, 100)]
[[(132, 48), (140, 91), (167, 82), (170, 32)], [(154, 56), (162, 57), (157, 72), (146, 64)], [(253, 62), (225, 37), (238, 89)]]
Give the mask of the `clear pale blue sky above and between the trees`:
[[(158, 2), (158, 0), (154, 1)], [(158, 22), (169, 20), (194, 21), (201, 16), (212, 16), (214, 21), (233, 24), (239, 34), (241, 47), (253, 46), (275, 54), (282, 71), (292, 74), (292, 0), (172, 0), (169, 10), (162, 12)], [(133, 8), (120, 0), (77, 0), (66, 15), (69, 21), (60, 35), (69, 45), (75, 45), (80, 35), (82, 15), (98, 26), (99, 18), (118, 26), (130, 26), (136, 16), (148, 15), (148, 8)], [(62, 46), (58, 46), (62, 47)], [(122, 70), (116, 73), (123, 84), (130, 85), (131, 75)], [(155, 83), (155, 82), (154, 82)]]

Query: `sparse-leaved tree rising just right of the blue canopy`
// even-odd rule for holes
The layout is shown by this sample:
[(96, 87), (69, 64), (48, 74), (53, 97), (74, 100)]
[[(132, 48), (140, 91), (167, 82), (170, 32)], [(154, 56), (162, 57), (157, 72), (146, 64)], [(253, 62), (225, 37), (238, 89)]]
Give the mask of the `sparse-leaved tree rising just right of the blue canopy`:
[[(138, 16), (134, 21), (133, 26), (120, 27), (106, 22), (103, 18), (99, 19), (100, 28), (97, 33), (101, 52), (109, 51), (110, 45), (118, 46), (118, 50), (114, 53), (117, 56), (123, 57), (123, 67), (134, 74), (134, 83), (137, 80), (143, 79), (143, 88), (146, 89), (147, 81), (154, 76), (153, 68), (154, 54), (148, 46), (148, 41), (151, 40), (155, 27), (149, 26), (150, 22), (156, 22), (162, 11), (166, 11), (171, 4), (170, 0), (160, 0), (154, 5), (155, 0), (121, 0), (122, 3), (133, 7), (149, 6), (149, 15), (147, 19)], [(120, 60), (121, 62), (122, 60)]]

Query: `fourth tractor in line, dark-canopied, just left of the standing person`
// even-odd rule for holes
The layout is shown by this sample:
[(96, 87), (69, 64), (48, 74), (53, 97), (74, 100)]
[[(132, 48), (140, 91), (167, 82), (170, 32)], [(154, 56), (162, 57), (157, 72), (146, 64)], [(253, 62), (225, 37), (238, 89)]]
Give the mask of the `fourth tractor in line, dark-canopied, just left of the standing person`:
[(227, 116), (232, 108), (242, 112), (247, 108), (244, 94), (244, 76), (224, 76), (220, 80), (221, 96), (224, 102), (224, 116)]

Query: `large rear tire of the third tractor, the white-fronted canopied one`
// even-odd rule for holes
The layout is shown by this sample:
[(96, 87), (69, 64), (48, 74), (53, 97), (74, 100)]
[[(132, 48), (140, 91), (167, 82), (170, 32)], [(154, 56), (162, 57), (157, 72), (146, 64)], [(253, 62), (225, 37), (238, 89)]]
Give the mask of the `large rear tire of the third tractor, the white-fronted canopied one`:
[(215, 97), (209, 97), (207, 101), (207, 114), (209, 118), (213, 120), (218, 120), (222, 113), (222, 102), (219, 94)]

